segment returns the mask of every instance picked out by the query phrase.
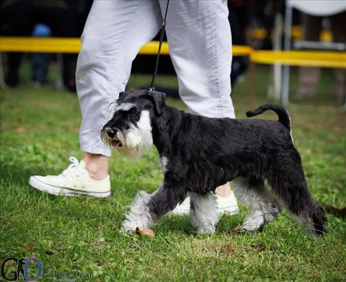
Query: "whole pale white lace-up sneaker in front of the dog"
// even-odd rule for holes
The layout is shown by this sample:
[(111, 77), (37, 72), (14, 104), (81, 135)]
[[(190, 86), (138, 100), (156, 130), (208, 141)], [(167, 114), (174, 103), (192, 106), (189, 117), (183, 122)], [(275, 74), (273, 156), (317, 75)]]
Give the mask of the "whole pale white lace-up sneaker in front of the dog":
[(29, 184), (40, 191), (53, 195), (64, 196), (91, 196), (107, 198), (110, 196), (109, 175), (104, 180), (93, 180), (85, 169), (85, 162), (75, 157), (69, 157), (72, 164), (59, 175), (34, 175)]

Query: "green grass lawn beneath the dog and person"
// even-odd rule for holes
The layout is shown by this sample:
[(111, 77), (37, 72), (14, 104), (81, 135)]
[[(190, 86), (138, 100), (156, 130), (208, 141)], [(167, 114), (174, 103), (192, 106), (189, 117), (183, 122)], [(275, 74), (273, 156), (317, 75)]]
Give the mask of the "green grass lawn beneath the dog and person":
[[(271, 100), (265, 95), (268, 68), (256, 70), (258, 105)], [(134, 76), (129, 85), (149, 80)], [(296, 80), (293, 69), (292, 93)], [(176, 86), (174, 77), (157, 81)], [(248, 81), (233, 89), (239, 118), (249, 109)], [(288, 110), (311, 193), (318, 202), (341, 208), (346, 205), (346, 119), (331, 99), (331, 86), (328, 72), (317, 99), (293, 100)], [(169, 103), (185, 108), (180, 101)], [(277, 117), (265, 113), (263, 118)], [(91, 273), (91, 281), (345, 281), (346, 222), (332, 215), (329, 233), (320, 240), (308, 237), (285, 211), (262, 233), (234, 233), (249, 212), (242, 206), (240, 214), (222, 217), (215, 235), (197, 235), (188, 217), (174, 216), (160, 221), (154, 238), (120, 235), (136, 192), (154, 191), (163, 180), (155, 148), (134, 163), (114, 154), (112, 196), (103, 201), (31, 188), (30, 175), (60, 173), (70, 155), (81, 158), (80, 122), (76, 95), (51, 86), (36, 90), (28, 81), (15, 90), (1, 89), (1, 258), (35, 256), (45, 273)]]

